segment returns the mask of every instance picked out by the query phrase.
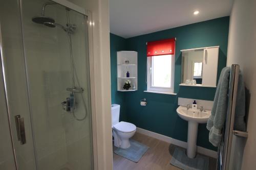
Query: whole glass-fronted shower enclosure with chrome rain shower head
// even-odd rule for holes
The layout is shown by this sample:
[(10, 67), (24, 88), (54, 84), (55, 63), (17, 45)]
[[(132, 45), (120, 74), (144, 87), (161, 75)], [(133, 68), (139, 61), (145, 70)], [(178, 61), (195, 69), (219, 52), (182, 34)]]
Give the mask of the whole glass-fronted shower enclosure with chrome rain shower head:
[(93, 169), (90, 14), (0, 3), (0, 169)]

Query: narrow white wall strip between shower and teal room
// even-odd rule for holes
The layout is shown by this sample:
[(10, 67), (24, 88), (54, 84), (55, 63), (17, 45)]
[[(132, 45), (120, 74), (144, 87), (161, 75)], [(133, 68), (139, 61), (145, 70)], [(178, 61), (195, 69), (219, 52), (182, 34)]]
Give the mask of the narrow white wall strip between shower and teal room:
[[(94, 76), (92, 86), (92, 119), (95, 169), (113, 169), (110, 32), (108, 0), (69, 0), (92, 12)], [(97, 132), (96, 132), (97, 129)], [(97, 142), (97, 143), (96, 143)], [(97, 148), (95, 148), (97, 147)]]

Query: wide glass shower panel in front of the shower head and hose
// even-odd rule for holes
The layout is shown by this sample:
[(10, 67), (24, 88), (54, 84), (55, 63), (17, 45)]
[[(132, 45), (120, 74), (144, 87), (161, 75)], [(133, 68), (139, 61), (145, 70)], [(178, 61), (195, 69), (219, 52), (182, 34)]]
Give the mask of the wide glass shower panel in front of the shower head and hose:
[(87, 16), (48, 4), (36, 23), (49, 2), (22, 1), (37, 169), (92, 169)]

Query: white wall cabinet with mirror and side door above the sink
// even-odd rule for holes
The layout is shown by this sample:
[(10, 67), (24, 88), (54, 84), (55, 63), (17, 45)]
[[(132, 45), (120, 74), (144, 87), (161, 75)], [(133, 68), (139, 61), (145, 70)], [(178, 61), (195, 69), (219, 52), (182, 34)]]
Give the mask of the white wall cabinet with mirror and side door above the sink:
[(219, 46), (181, 50), (180, 86), (217, 86)]

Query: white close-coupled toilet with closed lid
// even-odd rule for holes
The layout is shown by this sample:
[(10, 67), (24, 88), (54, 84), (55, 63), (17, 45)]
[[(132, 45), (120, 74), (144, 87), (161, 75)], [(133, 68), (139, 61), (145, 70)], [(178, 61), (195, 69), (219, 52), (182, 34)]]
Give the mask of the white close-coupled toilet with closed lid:
[(136, 126), (127, 122), (119, 122), (120, 105), (111, 105), (112, 135), (115, 147), (126, 149), (131, 146), (129, 139), (135, 134)]

